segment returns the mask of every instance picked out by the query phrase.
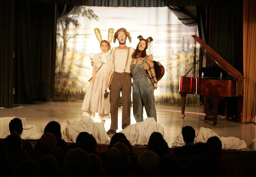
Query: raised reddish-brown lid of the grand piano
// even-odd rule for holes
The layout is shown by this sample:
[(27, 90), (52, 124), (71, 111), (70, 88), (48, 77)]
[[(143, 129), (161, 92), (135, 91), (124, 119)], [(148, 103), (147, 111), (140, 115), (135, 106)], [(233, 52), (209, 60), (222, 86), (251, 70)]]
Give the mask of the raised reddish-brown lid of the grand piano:
[(222, 69), (233, 76), (237, 80), (243, 80), (244, 76), (241, 72), (230, 65), (223, 57), (221, 57), (217, 52), (215, 52), (209, 45), (207, 45), (198, 36), (192, 36), (197, 42), (201, 44), (206, 50), (207, 55), (209, 55)]

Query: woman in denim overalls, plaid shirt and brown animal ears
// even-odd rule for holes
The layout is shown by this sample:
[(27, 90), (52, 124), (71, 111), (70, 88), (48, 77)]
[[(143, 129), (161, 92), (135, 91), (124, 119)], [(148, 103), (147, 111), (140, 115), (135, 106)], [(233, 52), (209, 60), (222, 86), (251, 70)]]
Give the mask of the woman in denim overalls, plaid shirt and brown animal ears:
[(142, 36), (135, 52), (132, 55), (131, 75), (133, 77), (133, 115), (136, 122), (142, 122), (143, 107), (145, 106), (147, 117), (153, 117), (157, 121), (157, 112), (154, 105), (154, 89), (157, 89), (156, 73), (153, 61), (147, 60), (146, 49), (148, 42), (153, 39), (143, 39)]

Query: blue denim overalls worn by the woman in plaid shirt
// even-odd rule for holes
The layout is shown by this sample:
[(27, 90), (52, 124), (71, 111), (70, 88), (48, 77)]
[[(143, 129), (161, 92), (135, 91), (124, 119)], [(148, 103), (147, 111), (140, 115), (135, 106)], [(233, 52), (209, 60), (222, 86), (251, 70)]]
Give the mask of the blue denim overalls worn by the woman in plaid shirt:
[[(133, 58), (133, 60), (134, 59), (136, 58)], [(133, 77), (133, 115), (136, 122), (142, 122), (143, 106), (145, 106), (147, 117), (153, 117), (157, 121), (157, 112), (154, 105), (154, 86), (143, 67), (146, 59), (138, 58), (137, 63), (140, 63), (141, 59), (143, 59), (144, 61), (142, 64), (138, 64), (137, 67), (136, 64), (131, 64), (131, 74)]]

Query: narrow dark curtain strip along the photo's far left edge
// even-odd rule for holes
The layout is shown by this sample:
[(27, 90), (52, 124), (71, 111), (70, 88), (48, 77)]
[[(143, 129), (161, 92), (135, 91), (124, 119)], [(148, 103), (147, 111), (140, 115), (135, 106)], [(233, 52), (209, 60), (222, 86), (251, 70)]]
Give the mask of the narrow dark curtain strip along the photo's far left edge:
[(13, 107), (15, 0), (0, 5), (0, 107)]

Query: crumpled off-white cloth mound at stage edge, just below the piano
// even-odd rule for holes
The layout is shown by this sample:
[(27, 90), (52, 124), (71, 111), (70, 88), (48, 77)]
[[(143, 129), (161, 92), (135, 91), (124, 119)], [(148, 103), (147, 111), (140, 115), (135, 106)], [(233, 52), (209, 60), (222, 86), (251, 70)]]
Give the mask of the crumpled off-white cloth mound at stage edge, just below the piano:
[[(208, 138), (217, 136), (219, 137), (221, 143), (222, 143), (222, 149), (228, 150), (239, 150), (239, 149), (245, 149), (247, 148), (247, 145), (244, 140), (240, 140), (236, 137), (221, 137), (218, 136), (215, 132), (213, 132), (209, 128), (201, 127), (198, 131), (198, 134), (196, 135), (194, 142), (206, 142)], [(180, 131), (179, 135), (176, 137), (175, 142), (172, 144), (172, 146), (184, 146), (185, 142), (182, 137), (182, 133)]]

